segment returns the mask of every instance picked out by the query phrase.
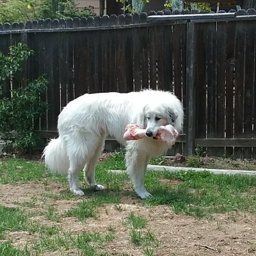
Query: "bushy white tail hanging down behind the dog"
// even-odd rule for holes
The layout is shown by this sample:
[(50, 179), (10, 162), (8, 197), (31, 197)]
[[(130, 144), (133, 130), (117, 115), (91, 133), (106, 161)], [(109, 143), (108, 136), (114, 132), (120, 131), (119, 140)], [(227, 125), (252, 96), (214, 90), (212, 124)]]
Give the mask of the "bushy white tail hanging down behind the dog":
[(67, 149), (65, 147), (65, 141), (61, 140), (60, 137), (49, 142), (44, 148), (42, 157), (44, 157), (45, 165), (51, 173), (66, 174), (68, 172)]

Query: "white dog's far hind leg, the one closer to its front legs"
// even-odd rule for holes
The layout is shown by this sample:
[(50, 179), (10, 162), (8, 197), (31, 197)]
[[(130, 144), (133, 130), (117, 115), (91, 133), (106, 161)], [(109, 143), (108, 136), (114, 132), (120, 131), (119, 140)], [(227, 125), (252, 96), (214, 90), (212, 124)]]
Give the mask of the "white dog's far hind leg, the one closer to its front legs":
[(97, 184), (97, 182), (95, 181), (95, 166), (97, 164), (97, 161), (99, 160), (103, 147), (104, 147), (104, 138), (100, 138), (98, 147), (96, 148), (93, 156), (87, 161), (83, 169), (84, 179), (86, 179), (90, 187), (92, 187), (96, 191), (100, 191), (104, 189), (104, 186)]

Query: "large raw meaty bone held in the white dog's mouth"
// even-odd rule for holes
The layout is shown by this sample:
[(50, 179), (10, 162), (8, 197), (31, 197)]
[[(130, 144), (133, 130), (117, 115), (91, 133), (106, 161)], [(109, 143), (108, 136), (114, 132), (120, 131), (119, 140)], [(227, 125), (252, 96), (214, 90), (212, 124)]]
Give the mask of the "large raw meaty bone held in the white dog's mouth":
[[(166, 144), (173, 145), (179, 133), (177, 130), (170, 124), (162, 125), (159, 127), (159, 130), (154, 136), (154, 139), (161, 140)], [(124, 139), (125, 140), (140, 140), (146, 136), (146, 129), (140, 129), (136, 124), (127, 124), (125, 127)]]

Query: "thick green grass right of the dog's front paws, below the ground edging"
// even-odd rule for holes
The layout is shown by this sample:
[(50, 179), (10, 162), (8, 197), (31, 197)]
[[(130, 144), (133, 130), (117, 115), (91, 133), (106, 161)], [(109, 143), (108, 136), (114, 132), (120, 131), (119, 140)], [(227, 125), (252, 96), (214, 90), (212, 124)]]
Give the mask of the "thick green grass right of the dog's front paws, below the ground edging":
[[(175, 186), (161, 184), (161, 178), (179, 180)], [(256, 177), (214, 175), (210, 172), (148, 173), (152, 197), (147, 205), (170, 205), (176, 213), (209, 217), (214, 213), (256, 211)]]

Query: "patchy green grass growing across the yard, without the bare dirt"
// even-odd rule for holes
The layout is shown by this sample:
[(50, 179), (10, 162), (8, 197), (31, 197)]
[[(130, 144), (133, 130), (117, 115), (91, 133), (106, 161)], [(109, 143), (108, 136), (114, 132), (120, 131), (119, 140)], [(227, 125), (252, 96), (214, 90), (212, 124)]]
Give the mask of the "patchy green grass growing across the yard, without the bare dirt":
[[(152, 163), (161, 161), (162, 158), (159, 157), (153, 159)], [(16, 207), (0, 205), (0, 255), (35, 255), (35, 252), (40, 255), (55, 251), (61, 252), (61, 255), (71, 252), (77, 252), (77, 255), (111, 255), (105, 247), (116, 239), (118, 230), (112, 223), (109, 223), (105, 232), (74, 232), (63, 229), (61, 223), (65, 218), (72, 217), (81, 223), (85, 222), (81, 225), (86, 227), (87, 221), (98, 218), (100, 211), (108, 204), (112, 205), (113, 211), (127, 214), (124, 204), (121, 204), (124, 198), (137, 200), (136, 202), (146, 207), (168, 205), (176, 214), (188, 214), (195, 218), (211, 218), (213, 214), (225, 212), (256, 212), (256, 177), (214, 175), (209, 172), (148, 172), (145, 186), (152, 196), (142, 201), (138, 200), (131, 189), (131, 181), (126, 173), (108, 172), (124, 169), (124, 153), (115, 154), (108, 161), (99, 163), (96, 178), (106, 186), (106, 191), (97, 192), (84, 184), (83, 173), (80, 173), (79, 180), (86, 197), (77, 198), (68, 191), (67, 178), (51, 175), (45, 170), (44, 164), (15, 158), (0, 161), (0, 184), (19, 186), (33, 182), (45, 185), (42, 195), (36, 194), (30, 200), (15, 202)], [(51, 182), (59, 183), (65, 189), (54, 192)], [(172, 186), (172, 182), (175, 182), (175, 186)], [(48, 203), (49, 200), (74, 201), (76, 206), (60, 213), (54, 204)], [(51, 226), (33, 220), (36, 211), (29, 209), (39, 207), (42, 207), (42, 218), (51, 221)], [(111, 214), (108, 209), (105, 208), (107, 216)], [(140, 248), (143, 255), (157, 255), (155, 253), (160, 244), (157, 236), (148, 228), (147, 218), (130, 211), (124, 220), (123, 225), (129, 232), (130, 243)], [(220, 229), (221, 223), (217, 223), (216, 228)], [(35, 239), (19, 248), (13, 246), (12, 239), (6, 236), (6, 232), (29, 232), (31, 236), (35, 234)]]

